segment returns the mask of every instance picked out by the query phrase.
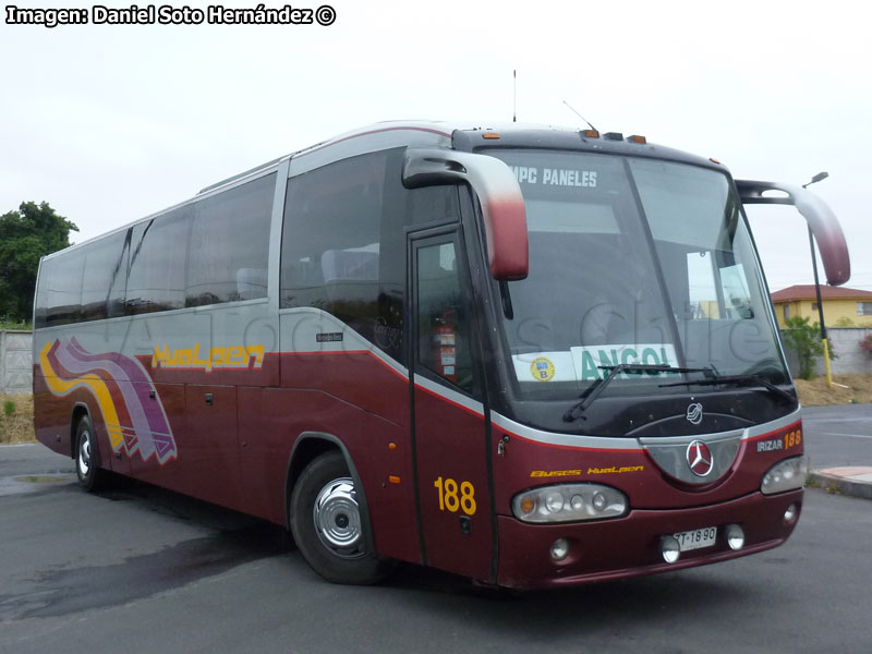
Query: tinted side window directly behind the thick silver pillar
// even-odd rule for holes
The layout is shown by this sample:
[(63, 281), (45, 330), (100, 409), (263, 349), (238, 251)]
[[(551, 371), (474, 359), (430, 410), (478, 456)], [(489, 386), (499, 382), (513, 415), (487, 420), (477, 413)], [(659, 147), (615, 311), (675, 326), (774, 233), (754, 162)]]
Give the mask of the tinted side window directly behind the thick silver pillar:
[(195, 205), (187, 306), (266, 298), (275, 187), (274, 173)]

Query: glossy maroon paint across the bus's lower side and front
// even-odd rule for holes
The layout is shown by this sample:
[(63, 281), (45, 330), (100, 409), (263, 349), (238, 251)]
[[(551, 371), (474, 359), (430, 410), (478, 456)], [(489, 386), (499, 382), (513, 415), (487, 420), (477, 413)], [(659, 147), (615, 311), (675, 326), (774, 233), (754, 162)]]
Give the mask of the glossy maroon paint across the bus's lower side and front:
[[(77, 389), (56, 398), (35, 366), (37, 437), (69, 456), (72, 405), (84, 402), (90, 409), (105, 468), (128, 472), (129, 467), (137, 479), (284, 524), (287, 470), (296, 438), (305, 432), (330, 434), (342, 441), (360, 474), (376, 549), (385, 556), (420, 562), (408, 378), (371, 352), (268, 354), (264, 368), (267, 377), (280, 370), (284, 387), (215, 384), (227, 379), (222, 377), (226, 371), (167, 371), (173, 379), (185, 373), (189, 383), (156, 384), (179, 448), (178, 460), (159, 467), (137, 458), (117, 459), (88, 391)], [(207, 392), (213, 393), (211, 405), (206, 404)], [(487, 580), (492, 531), (485, 421), (421, 387), (415, 387), (414, 398), (427, 564)], [(768, 468), (788, 456), (802, 453), (802, 447), (758, 453), (755, 441), (780, 438), (799, 426), (796, 423), (742, 441), (736, 463), (722, 480), (694, 487), (661, 473), (643, 450), (546, 445), (494, 425), (498, 583), (583, 583), (702, 565), (780, 544), (792, 531), (792, 525), (783, 524), (782, 517), (791, 501), (801, 501), (801, 492), (765, 497), (759, 493), (760, 482)], [(505, 453), (499, 455), (496, 444), (504, 435), (509, 435), (510, 440)], [(392, 449), (391, 444), (396, 446)], [(623, 474), (590, 471), (631, 465), (642, 465), (644, 470)], [(583, 473), (531, 476), (533, 471), (572, 469)], [(434, 487), (439, 476), (453, 479), (458, 486), (462, 482), (474, 486), (476, 510), (470, 517), (471, 534), (461, 531), (462, 509), (439, 509)], [(393, 483), (397, 479), (399, 483)], [(620, 488), (630, 497), (632, 513), (617, 520), (565, 525), (529, 525), (511, 517), (511, 499), (520, 491), (576, 481)], [(688, 506), (694, 508), (685, 508)], [(661, 535), (729, 522), (746, 528), (748, 547), (741, 553), (725, 550), (719, 542), (713, 549), (682, 555), (673, 566), (657, 560), (656, 541)], [(548, 557), (548, 548), (557, 537), (570, 538), (576, 553), (562, 566), (555, 566)], [(723, 533), (719, 537), (723, 540)]]

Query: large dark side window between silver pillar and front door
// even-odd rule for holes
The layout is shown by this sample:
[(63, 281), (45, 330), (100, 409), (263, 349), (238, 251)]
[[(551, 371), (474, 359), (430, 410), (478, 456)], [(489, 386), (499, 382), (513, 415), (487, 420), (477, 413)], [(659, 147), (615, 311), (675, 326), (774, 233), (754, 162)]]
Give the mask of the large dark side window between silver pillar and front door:
[(459, 216), (455, 186), (402, 186), (402, 155), (362, 155), (288, 180), (280, 281), (282, 307), (323, 308), (400, 362), (404, 227)]

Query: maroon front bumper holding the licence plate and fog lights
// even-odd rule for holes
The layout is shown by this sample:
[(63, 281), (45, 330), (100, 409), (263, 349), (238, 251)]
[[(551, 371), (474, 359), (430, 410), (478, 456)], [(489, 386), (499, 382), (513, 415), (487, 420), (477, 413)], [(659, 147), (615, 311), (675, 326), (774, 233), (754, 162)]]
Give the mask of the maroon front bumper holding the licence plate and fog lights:
[[(790, 505), (797, 516), (786, 523)], [(714, 564), (777, 547), (796, 528), (802, 508), (802, 491), (765, 496), (753, 493), (726, 502), (692, 509), (633, 510), (623, 518), (598, 522), (526, 524), (506, 516), (497, 518), (499, 566), (497, 584), (508, 588), (554, 588), (654, 574)], [(729, 548), (726, 525), (739, 524), (744, 546)], [(675, 564), (666, 564), (659, 549), (662, 536), (717, 526), (711, 547), (682, 552)], [(569, 542), (569, 554), (550, 558), (557, 538)]]

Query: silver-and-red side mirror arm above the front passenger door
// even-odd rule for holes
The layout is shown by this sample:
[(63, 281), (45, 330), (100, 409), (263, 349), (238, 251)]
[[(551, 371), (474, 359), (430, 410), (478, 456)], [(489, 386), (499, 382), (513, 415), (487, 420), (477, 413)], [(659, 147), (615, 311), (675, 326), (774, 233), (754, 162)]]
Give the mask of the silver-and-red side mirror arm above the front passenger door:
[(469, 184), (482, 205), (491, 276), (498, 281), (526, 278), (526, 211), (518, 180), (506, 164), (487, 155), (409, 148), (402, 183), (407, 189)]

